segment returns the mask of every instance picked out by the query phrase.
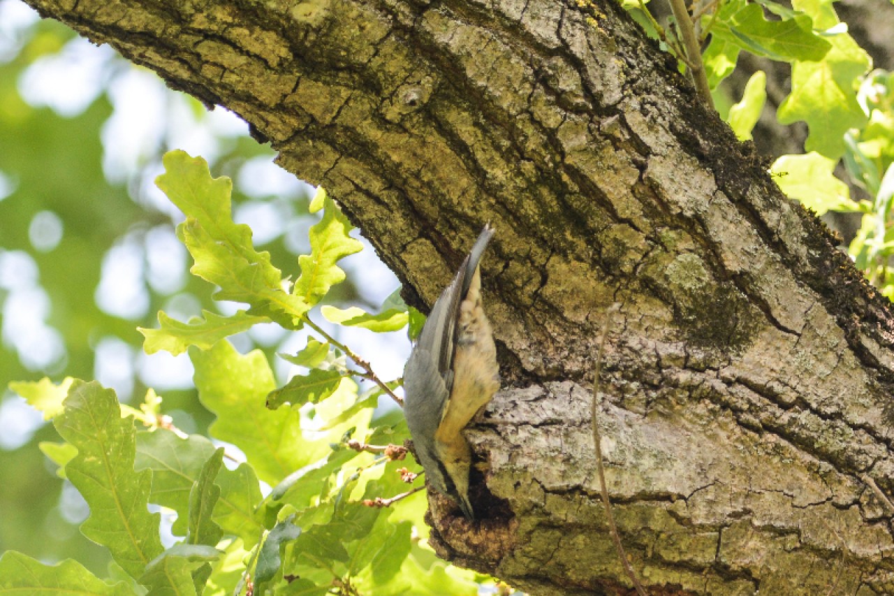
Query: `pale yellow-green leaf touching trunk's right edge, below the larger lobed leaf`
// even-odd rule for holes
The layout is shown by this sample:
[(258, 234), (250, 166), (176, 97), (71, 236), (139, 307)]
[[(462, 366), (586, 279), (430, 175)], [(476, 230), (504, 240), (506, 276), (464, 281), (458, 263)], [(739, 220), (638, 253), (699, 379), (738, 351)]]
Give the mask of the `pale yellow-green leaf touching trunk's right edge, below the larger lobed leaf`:
[(797, 199), (816, 215), (826, 211), (859, 211), (859, 203), (850, 199), (848, 185), (832, 171), (835, 160), (812, 151), (805, 155), (784, 155), (772, 165), (780, 190)]

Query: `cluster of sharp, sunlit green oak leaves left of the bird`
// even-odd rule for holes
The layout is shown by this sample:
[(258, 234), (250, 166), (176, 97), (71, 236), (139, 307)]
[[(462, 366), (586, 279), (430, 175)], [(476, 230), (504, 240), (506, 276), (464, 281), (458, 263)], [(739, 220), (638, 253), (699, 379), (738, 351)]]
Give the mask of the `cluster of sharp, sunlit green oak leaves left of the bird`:
[[(120, 404), (96, 381), (11, 384), (53, 421), (63, 442), (45, 445), (44, 453), (89, 506), (80, 531), (108, 550), (117, 570), (109, 579), (122, 581), (97, 583), (110, 574), (71, 561), (35, 566), (7, 551), (0, 557), (6, 574), (0, 587), (221, 596), (243, 590), (476, 594), (487, 578), (434, 558), (426, 541), (414, 539), (427, 535), (426, 499), (418, 465), (403, 461), (409, 431), (399, 411), (375, 415), (378, 396), (401, 401), (392, 392), (399, 381), (375, 376), (315, 320), (316, 306), (346, 279), (340, 261), (363, 248), (347, 218), (325, 191), (316, 191), (309, 209), (322, 217), (308, 230), (310, 251), (300, 257), (292, 283), (270, 253), (256, 250), (249, 226), (232, 221), (228, 178), (213, 178), (204, 159), (180, 150), (166, 153), (163, 163), (156, 183), (185, 216), (177, 235), (190, 251), (191, 273), (217, 288), (217, 300), (249, 306), (185, 325), (160, 313), (167, 324), (143, 330), (147, 346), (178, 353), (186, 346), (198, 399), (215, 421), (208, 437), (184, 433), (152, 391), (138, 409)], [(381, 333), (409, 334), (410, 309), (397, 294), (379, 314), (333, 312), (350, 312), (343, 326), (354, 327), (359, 318), (367, 329), (375, 323)], [(281, 387), (271, 366), (279, 355), (239, 353), (228, 337), (244, 332), (247, 321), (310, 328), (318, 339), (283, 355), (312, 363), (308, 374)], [(361, 391), (358, 379), (374, 386)], [(209, 438), (225, 447), (215, 448)], [(226, 454), (233, 448), (244, 461)], [(223, 466), (224, 455), (233, 465)], [(152, 506), (176, 514), (164, 543)]]

